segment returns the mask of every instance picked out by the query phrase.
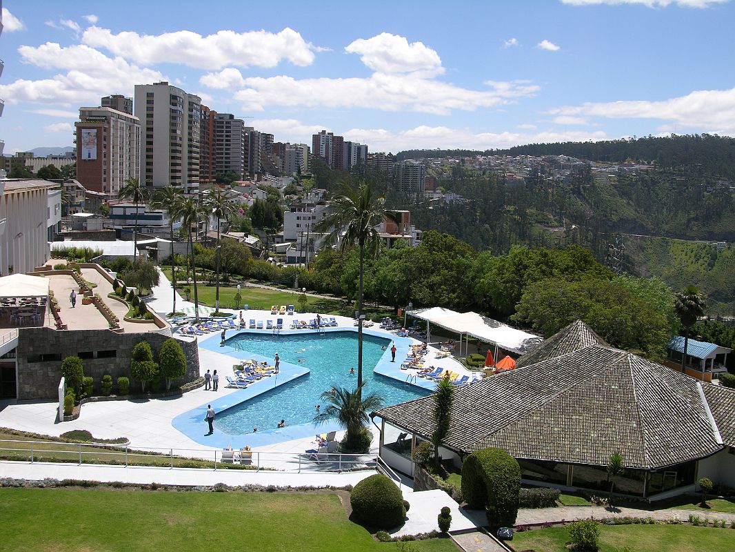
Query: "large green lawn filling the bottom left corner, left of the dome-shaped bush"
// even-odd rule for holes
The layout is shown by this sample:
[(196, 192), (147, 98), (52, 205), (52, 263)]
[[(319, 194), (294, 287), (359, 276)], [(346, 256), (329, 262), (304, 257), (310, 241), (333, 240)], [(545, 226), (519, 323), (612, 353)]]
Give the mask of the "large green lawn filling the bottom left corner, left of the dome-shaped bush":
[[(351, 523), (327, 493), (0, 489), (0, 519), (3, 550), (398, 550)], [(450, 539), (415, 545), (457, 550)]]

